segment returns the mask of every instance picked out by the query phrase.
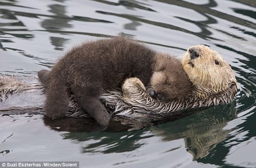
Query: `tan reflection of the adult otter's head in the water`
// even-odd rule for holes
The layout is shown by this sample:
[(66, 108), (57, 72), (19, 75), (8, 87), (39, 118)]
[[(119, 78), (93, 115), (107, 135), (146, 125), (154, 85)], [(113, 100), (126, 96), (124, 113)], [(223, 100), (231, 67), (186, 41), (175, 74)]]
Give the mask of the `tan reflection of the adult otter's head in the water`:
[[(203, 120), (203, 123), (196, 122), (195, 124), (190, 124), (188, 126), (189, 137), (185, 139), (185, 144), (187, 150), (193, 155), (194, 159), (207, 156), (209, 151), (214, 149), (218, 143), (223, 142), (227, 138), (228, 133), (231, 131), (225, 130), (224, 127), (227, 125), (227, 122), (237, 117), (234, 106), (209, 111), (211, 111), (212, 114), (215, 113), (216, 110), (220, 111), (220, 113), (217, 113), (218, 116), (214, 114), (210, 119), (205, 121)], [(223, 115), (223, 113), (225, 114)], [(200, 118), (200, 116), (196, 116), (195, 121), (198, 121), (196, 119)]]

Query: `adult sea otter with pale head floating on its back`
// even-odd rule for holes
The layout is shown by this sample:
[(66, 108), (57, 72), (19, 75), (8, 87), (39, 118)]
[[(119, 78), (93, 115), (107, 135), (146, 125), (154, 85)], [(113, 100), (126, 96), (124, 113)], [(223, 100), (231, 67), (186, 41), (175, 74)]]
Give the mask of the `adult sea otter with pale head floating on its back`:
[[(152, 98), (138, 78), (128, 78), (122, 93), (109, 92), (99, 99), (111, 116), (134, 118), (155, 114), (176, 114), (178, 110), (225, 104), (236, 94), (237, 82), (229, 64), (207, 46), (192, 46), (183, 57), (182, 66), (192, 81), (192, 93), (165, 103)], [(17, 100), (18, 103), (17, 103)], [(36, 77), (0, 75), (0, 113), (26, 111), (44, 114), (45, 89)], [(71, 96), (66, 116), (88, 116)]]

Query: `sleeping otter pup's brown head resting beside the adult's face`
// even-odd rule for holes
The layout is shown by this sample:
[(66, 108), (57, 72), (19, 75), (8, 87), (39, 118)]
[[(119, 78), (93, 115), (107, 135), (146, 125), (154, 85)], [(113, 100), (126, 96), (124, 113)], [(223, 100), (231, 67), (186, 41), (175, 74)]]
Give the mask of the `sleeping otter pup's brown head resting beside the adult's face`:
[(192, 83), (181, 62), (169, 55), (159, 54), (154, 64), (151, 87), (160, 101), (181, 99), (192, 92)]

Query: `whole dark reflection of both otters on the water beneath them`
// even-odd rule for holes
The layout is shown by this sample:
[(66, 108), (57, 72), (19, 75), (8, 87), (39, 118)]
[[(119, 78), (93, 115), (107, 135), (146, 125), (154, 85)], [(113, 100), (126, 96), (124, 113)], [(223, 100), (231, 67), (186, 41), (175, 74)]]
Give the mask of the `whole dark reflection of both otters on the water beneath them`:
[[(153, 136), (152, 134), (147, 135), (148, 130), (150, 130), (154, 136), (159, 136), (163, 142), (184, 139), (186, 150), (193, 155), (194, 159), (198, 159), (207, 156), (218, 143), (223, 142), (228, 137), (228, 133), (232, 130), (224, 129), (224, 127), (227, 122), (237, 117), (235, 105), (233, 102), (233, 104), (220, 107), (210, 107), (183, 120), (169, 122), (165, 126), (140, 129), (136, 132), (127, 131), (132, 128), (122, 125), (120, 122), (112, 121), (109, 127), (105, 128), (87, 118), (60, 120), (44, 118), (44, 124), (56, 131), (68, 131), (69, 133), (61, 133), (61, 136), (64, 139), (72, 139), (74, 143), (80, 143), (81, 153), (109, 154), (134, 151), (141, 146), (137, 143), (138, 141)], [(130, 120), (129, 122), (131, 125), (133, 124), (133, 121)], [(89, 132), (90, 134), (88, 134)], [(115, 133), (114, 136), (111, 133)], [(130, 136), (132, 138), (128, 138)], [(88, 144), (87, 141), (91, 140), (93, 143)], [(99, 148), (105, 145), (109, 145), (109, 148)]]

